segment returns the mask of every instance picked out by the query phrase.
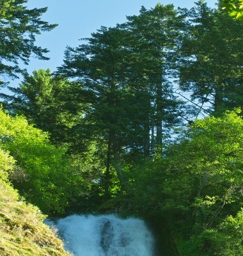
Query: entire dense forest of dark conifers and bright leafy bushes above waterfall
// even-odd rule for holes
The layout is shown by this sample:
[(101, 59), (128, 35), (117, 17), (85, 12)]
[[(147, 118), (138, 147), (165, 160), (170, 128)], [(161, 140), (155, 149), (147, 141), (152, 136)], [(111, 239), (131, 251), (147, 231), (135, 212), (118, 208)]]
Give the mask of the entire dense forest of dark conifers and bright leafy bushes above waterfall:
[(33, 74), (20, 63), (47, 60), (35, 36), (57, 25), (26, 2), (0, 0), (0, 75), (23, 77), (0, 80), (0, 222), (15, 188), (49, 216), (141, 217), (164, 255), (243, 255), (242, 1), (142, 6)]

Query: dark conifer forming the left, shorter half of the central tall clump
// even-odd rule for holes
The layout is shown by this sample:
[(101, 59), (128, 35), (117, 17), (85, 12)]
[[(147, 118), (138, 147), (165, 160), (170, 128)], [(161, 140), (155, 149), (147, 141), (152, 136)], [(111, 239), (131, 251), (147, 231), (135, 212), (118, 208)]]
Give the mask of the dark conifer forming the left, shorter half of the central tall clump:
[(123, 65), (127, 49), (123, 48), (122, 42), (126, 34), (120, 29), (102, 27), (88, 38), (88, 44), (68, 48), (65, 65), (59, 68), (61, 74), (77, 79), (83, 85), (82, 93), (86, 93), (86, 104), (90, 106), (85, 112), (92, 131), (89, 134), (95, 134), (105, 142), (106, 175), (109, 177), (113, 162), (121, 183), (124, 179), (120, 154), (122, 147), (128, 144), (130, 113), (127, 109), (131, 99), (129, 81), (124, 76), (126, 66)]

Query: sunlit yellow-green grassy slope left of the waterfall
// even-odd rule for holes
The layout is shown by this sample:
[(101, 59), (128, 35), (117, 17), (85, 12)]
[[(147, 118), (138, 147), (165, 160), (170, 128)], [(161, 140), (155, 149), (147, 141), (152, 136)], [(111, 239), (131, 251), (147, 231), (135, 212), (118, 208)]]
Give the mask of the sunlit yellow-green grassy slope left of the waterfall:
[(45, 216), (26, 204), (10, 184), (0, 179), (0, 255), (70, 256), (63, 243), (43, 224)]

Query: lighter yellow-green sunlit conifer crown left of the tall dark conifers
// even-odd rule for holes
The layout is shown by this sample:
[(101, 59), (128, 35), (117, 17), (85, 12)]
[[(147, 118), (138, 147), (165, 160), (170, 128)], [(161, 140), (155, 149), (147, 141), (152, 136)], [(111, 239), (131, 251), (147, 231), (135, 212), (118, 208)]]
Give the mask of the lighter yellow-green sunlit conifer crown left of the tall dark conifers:
[[(8, 86), (13, 95), (2, 95), (5, 109), (13, 115), (26, 116), (30, 124), (49, 132), (56, 144), (68, 142), (71, 127), (80, 121), (82, 108), (75, 106), (73, 98), (79, 85), (67, 79), (54, 77), (51, 70), (36, 70), (26, 74), (19, 87)], [(81, 89), (80, 89), (81, 90)]]

